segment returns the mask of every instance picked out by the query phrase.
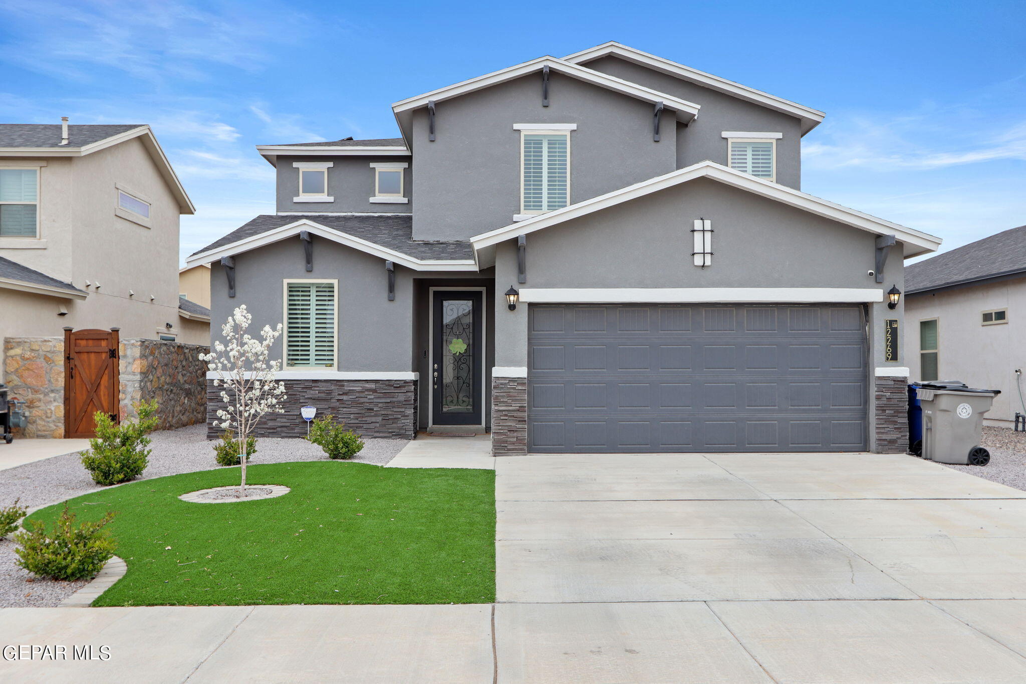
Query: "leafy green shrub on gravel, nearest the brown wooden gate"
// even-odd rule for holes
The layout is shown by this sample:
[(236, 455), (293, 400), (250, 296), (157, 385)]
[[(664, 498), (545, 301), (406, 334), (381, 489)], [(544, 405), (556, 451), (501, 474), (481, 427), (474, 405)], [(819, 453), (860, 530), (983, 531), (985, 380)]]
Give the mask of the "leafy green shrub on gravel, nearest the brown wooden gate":
[(82, 454), (82, 465), (92, 481), (105, 487), (134, 480), (146, 470), (151, 449), (147, 434), (157, 427), (157, 402), (136, 405), (137, 420), (117, 425), (106, 413), (96, 412), (96, 438), (89, 440), (88, 451)]

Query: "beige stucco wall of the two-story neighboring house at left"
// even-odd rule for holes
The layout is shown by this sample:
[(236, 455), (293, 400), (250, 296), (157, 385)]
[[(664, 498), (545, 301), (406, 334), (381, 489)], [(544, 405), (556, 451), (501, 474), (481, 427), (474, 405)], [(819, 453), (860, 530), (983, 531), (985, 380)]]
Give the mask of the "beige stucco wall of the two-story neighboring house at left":
[[(115, 184), (152, 203), (150, 227), (115, 215)], [(179, 331), (179, 210), (139, 139), (84, 157), (46, 160), (40, 170), (38, 246), (12, 249), (0, 241), (0, 256), (71, 282), (88, 296), (64, 299), (0, 289), (0, 310), (27, 313), (5, 315), (0, 337), (56, 335), (67, 325), (119, 327), (122, 338), (156, 338), (166, 331), (165, 323)], [(58, 316), (62, 306), (65, 316)], [(179, 331), (177, 341), (206, 338), (189, 326)]]

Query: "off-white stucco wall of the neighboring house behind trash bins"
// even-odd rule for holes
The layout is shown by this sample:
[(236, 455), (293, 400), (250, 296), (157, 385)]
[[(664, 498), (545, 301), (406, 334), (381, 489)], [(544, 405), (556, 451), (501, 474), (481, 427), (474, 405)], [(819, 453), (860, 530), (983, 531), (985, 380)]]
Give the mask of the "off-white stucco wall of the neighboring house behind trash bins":
[[(1026, 413), (1019, 398), (1016, 369), (1026, 370), (1026, 278), (911, 294), (905, 298), (905, 358), (913, 380), (922, 379), (919, 364), (919, 321), (937, 318), (939, 379), (961, 380), (970, 387), (1000, 390), (984, 423), (1011, 427), (1016, 411)], [(982, 325), (991, 309), (1009, 310), (1009, 322)]]

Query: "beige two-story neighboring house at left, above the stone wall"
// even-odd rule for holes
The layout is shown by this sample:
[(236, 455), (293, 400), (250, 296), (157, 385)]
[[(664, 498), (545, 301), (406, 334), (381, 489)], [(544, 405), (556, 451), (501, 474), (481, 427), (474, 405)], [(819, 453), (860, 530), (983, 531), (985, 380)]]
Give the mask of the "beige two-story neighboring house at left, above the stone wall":
[(209, 316), (179, 301), (193, 212), (149, 126), (0, 124), (0, 337), (207, 344)]

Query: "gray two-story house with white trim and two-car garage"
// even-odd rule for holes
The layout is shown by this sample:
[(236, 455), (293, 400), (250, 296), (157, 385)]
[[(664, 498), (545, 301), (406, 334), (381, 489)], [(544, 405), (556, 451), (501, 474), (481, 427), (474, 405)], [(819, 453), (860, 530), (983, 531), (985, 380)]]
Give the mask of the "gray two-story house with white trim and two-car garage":
[(615, 42), (392, 110), (260, 146), (277, 213), (189, 260), (215, 322), (284, 323), (265, 434), (312, 404), (496, 455), (904, 450), (889, 293), (940, 240), (801, 192), (822, 112)]

